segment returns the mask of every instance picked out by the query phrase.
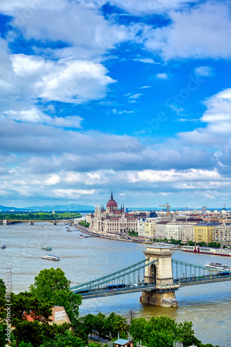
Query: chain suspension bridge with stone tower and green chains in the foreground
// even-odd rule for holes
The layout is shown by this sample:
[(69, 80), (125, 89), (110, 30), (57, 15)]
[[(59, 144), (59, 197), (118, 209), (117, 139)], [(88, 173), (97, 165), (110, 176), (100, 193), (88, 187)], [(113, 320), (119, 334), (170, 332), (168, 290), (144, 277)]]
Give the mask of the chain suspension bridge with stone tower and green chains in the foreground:
[(231, 271), (211, 269), (172, 259), (167, 247), (148, 246), (145, 259), (124, 269), (81, 283), (71, 290), (83, 299), (142, 292), (140, 301), (177, 307), (175, 292), (180, 287), (231, 280)]

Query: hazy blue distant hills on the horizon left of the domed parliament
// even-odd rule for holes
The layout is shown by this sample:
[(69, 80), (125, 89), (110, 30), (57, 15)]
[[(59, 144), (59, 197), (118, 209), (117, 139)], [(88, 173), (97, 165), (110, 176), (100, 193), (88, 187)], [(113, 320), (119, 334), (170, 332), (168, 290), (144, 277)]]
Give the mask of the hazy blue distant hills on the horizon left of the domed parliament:
[(94, 211), (94, 206), (78, 205), (76, 203), (69, 203), (68, 205), (42, 205), (42, 206), (29, 206), (26, 208), (13, 208), (0, 205), (2, 211)]

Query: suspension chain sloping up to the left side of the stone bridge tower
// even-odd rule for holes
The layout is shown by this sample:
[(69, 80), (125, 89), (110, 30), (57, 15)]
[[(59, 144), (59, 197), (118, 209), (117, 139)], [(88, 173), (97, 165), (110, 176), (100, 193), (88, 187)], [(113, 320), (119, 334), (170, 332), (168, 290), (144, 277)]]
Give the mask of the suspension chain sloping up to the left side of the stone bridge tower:
[[(125, 276), (130, 275), (131, 273), (135, 273), (137, 271), (140, 271), (146, 266), (150, 266), (151, 264), (154, 264), (158, 260), (152, 260), (151, 262), (148, 262), (149, 258), (146, 258), (140, 262), (137, 262), (135, 264), (132, 264), (124, 269), (121, 269), (119, 271), (116, 271), (114, 273), (110, 273), (107, 276), (103, 276), (101, 278), (96, 278), (96, 280), (92, 280), (89, 282), (82, 283), (82, 285), (71, 287), (71, 290), (74, 291), (74, 293), (78, 294), (80, 291), (85, 290), (92, 290), (94, 288), (99, 289), (100, 286), (105, 285), (106, 283), (114, 282), (115, 280), (118, 280), (119, 278), (125, 278)], [(146, 263), (147, 262), (147, 263)], [(146, 263), (146, 264), (145, 264)], [(139, 278), (139, 276), (138, 276)], [(130, 284), (129, 284), (130, 285)]]

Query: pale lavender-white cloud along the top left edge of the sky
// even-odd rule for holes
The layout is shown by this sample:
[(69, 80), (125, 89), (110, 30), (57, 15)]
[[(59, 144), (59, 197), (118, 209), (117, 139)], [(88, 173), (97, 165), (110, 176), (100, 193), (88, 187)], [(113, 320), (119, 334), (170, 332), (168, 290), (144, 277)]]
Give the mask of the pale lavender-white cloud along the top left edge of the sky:
[[(137, 24), (123, 26), (105, 19), (92, 1), (35, 1), (38, 3), (35, 7), (33, 1), (15, 1), (10, 7), (3, 0), (0, 10), (13, 17), (12, 26), (21, 30), (27, 40), (62, 41), (70, 45), (64, 49), (68, 52), (66, 57), (73, 54), (76, 58), (77, 54), (78, 58), (94, 58), (121, 42), (132, 40), (139, 30)], [(81, 53), (83, 56), (79, 56)]]

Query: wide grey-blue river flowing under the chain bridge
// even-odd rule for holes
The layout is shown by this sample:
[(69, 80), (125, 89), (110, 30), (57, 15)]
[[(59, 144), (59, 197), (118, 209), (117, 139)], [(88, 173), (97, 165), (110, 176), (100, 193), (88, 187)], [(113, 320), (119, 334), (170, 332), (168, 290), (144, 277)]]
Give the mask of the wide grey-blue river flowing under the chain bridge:
[[(43, 226), (43, 228), (41, 228)], [(72, 228), (71, 228), (72, 229)], [(114, 241), (98, 237), (79, 239), (80, 232), (67, 232), (65, 225), (50, 223), (17, 224), (7, 228), (0, 226), (0, 278), (6, 269), (11, 270), (12, 291), (28, 290), (35, 276), (42, 269), (60, 267), (71, 282), (87, 282), (144, 259), (144, 244)], [(60, 257), (60, 262), (42, 260), (49, 253), (40, 249), (42, 245), (52, 247), (51, 253)], [(231, 265), (231, 257), (198, 255), (176, 251), (173, 257), (194, 264), (204, 265), (221, 262)], [(74, 284), (73, 284), (74, 285)], [(140, 293), (125, 294), (83, 301), (80, 314), (115, 312), (126, 316), (132, 309), (137, 317), (169, 316), (176, 321), (192, 321), (196, 337), (203, 344), (212, 343), (220, 347), (231, 347), (231, 282), (196, 285), (176, 291), (178, 308), (155, 307), (139, 302)]]

